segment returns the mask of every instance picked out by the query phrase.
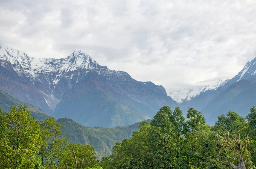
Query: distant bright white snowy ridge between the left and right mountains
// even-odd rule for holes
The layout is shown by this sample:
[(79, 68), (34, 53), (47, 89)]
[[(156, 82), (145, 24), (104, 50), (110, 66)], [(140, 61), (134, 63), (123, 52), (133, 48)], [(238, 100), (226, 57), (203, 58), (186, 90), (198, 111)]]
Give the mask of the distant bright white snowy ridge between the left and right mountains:
[(216, 83), (207, 86), (189, 86), (189, 88), (183, 88), (179, 90), (173, 90), (169, 92), (169, 96), (172, 97), (177, 103), (182, 103), (183, 101), (189, 101), (193, 97), (200, 95), (202, 92), (207, 90), (216, 90), (219, 86), (223, 86), (227, 83), (227, 80), (218, 80)]

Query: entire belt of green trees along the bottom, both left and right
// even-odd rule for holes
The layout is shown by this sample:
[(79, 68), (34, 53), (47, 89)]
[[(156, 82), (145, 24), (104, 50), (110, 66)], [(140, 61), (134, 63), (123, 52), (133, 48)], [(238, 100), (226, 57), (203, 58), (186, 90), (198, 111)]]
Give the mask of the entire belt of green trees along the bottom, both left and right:
[(72, 143), (53, 117), (35, 120), (26, 106), (13, 106), (0, 111), (0, 168), (231, 169), (230, 162), (238, 165), (241, 157), (247, 169), (255, 169), (256, 107), (246, 118), (228, 111), (214, 126), (193, 108), (186, 118), (182, 114), (179, 107), (163, 106), (97, 160), (96, 147)]

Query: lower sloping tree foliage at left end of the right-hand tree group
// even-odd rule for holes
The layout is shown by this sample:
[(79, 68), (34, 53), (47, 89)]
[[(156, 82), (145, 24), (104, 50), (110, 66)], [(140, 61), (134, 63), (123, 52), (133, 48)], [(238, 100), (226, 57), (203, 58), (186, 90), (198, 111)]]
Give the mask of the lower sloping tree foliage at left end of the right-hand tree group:
[(102, 159), (102, 166), (107, 166), (110, 169), (111, 167), (125, 169), (150, 168), (152, 153), (148, 149), (149, 123), (143, 121), (139, 128), (140, 131), (134, 131), (131, 139), (124, 139), (122, 143), (116, 143), (113, 146), (113, 154), (110, 158)]

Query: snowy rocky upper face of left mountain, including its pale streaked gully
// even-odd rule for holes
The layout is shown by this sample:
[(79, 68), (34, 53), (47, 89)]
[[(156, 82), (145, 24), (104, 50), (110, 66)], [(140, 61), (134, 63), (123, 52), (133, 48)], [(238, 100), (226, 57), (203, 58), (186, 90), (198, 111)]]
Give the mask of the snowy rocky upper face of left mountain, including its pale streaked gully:
[[(106, 66), (100, 66), (88, 54), (81, 51), (74, 51), (66, 58), (41, 59), (29, 57), (26, 53), (9, 46), (6, 48), (0, 46), (0, 60), (0, 65), (5, 67), (8, 62), (11, 63), (12, 68), (20, 77), (29, 78), (35, 86), (39, 87), (42, 94), (45, 95), (44, 99), (50, 109), (55, 109), (64, 94), (58, 88), (70, 89), (76, 86), (79, 83), (81, 72), (84, 75), (93, 70), (97, 74), (105, 74), (106, 77), (111, 74), (127, 75), (126, 72), (114, 71)], [(73, 83), (74, 81), (75, 83)], [(38, 82), (44, 83), (44, 87), (40, 87), (42, 84), (38, 84)]]

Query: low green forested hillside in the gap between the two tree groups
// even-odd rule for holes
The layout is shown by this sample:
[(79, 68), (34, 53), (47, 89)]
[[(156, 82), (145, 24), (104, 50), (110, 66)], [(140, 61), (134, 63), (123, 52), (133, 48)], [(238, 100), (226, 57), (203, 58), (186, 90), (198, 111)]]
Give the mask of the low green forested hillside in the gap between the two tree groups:
[(90, 128), (68, 118), (60, 118), (57, 122), (63, 125), (61, 131), (70, 139), (70, 142), (92, 145), (99, 159), (111, 155), (112, 147), (116, 142), (122, 142), (123, 139), (130, 138), (133, 131), (139, 129), (139, 123), (115, 128)]

